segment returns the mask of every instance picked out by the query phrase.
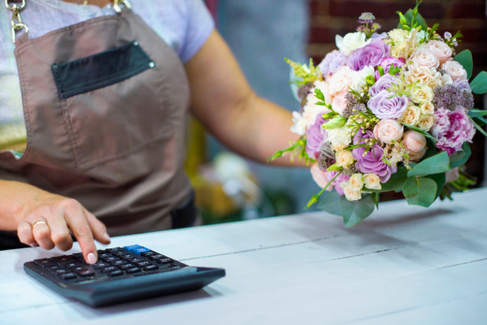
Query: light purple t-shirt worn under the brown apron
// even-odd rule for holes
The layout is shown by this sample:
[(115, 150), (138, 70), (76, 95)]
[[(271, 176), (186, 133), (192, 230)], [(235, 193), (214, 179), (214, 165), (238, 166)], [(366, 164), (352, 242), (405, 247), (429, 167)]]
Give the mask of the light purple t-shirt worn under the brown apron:
[[(129, 0), (132, 11), (155, 30), (186, 63), (208, 40), (215, 23), (203, 0)], [(2, 143), (25, 137), (22, 100), (16, 59), (11, 41), (11, 11), (1, 6), (0, 14), (0, 150)], [(98, 16), (114, 15), (110, 4), (104, 8), (83, 6), (61, 0), (27, 0), (21, 11), (29, 37), (35, 38), (58, 28)], [(2, 138), (4, 138), (2, 140)]]

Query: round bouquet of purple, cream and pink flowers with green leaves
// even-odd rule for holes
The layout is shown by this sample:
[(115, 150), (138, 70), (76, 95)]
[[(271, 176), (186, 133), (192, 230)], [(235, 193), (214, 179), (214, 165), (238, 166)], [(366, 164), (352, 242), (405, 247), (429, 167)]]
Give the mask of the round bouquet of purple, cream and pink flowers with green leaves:
[(318, 66), (286, 59), (301, 101), (291, 131), (301, 137), (271, 159), (306, 160), (321, 187), (308, 207), (342, 215), (347, 227), (378, 207), (380, 192), (402, 191), (407, 203), (428, 207), (474, 184), (462, 165), (476, 130), (487, 136), (487, 111), (474, 108), (472, 95), (487, 92), (487, 73), (469, 82), (471, 52), (455, 52), (462, 35), (438, 35), (420, 3), (398, 11), (389, 32), (362, 13)]

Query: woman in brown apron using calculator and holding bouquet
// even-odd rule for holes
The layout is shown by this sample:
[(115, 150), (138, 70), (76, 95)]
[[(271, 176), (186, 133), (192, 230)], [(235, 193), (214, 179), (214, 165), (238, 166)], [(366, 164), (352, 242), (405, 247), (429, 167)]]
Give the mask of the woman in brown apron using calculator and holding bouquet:
[(67, 250), (72, 234), (93, 264), (108, 234), (193, 225), (188, 107), (261, 162), (296, 137), (290, 112), (251, 90), (201, 0), (27, 0), (13, 35), (3, 13), (4, 238), (17, 230), (24, 244)]

